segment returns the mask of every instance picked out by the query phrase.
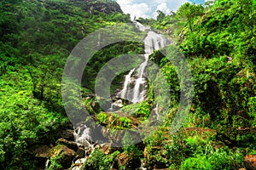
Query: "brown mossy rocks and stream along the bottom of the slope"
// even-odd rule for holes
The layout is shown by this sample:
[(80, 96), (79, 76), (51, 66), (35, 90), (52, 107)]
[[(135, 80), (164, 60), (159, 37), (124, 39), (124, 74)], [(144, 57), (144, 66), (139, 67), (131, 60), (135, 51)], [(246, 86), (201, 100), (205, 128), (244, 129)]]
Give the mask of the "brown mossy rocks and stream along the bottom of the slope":
[[(82, 128), (81, 128), (82, 129)], [(136, 144), (138, 150), (142, 151), (140, 157), (132, 156), (125, 152), (124, 147), (116, 147), (114, 144), (97, 144), (90, 141), (90, 136), (86, 136), (83, 133), (79, 133), (79, 129), (73, 130), (69, 129), (64, 131), (66, 134), (62, 135), (62, 138), (57, 139), (55, 144), (50, 146), (46, 144), (38, 144), (32, 148), (32, 153), (35, 158), (42, 165), (38, 169), (90, 169), (90, 164), (87, 161), (90, 160), (92, 153), (97, 150), (101, 152), (102, 156), (111, 156), (113, 153), (117, 153), (112, 160), (112, 170), (124, 169), (125, 166), (130, 165), (127, 169), (168, 169), (167, 165), (163, 161), (157, 161), (157, 156), (162, 156), (166, 159), (172, 159), (166, 155), (166, 146), (163, 144), (173, 143), (172, 136), (168, 133), (168, 129), (161, 128), (161, 135), (164, 136), (164, 140), (160, 144), (154, 147), (149, 146), (146, 142), (141, 142)], [(181, 129), (183, 135), (189, 138), (201, 137), (201, 139), (207, 139), (216, 137), (217, 133), (212, 129), (200, 128), (200, 127), (187, 127)], [(80, 131), (82, 132), (82, 130)], [(83, 132), (88, 133), (85, 127)], [(160, 138), (156, 134), (155, 138)], [(82, 140), (82, 138), (84, 140)], [(85, 141), (86, 140), (86, 141)], [(227, 141), (230, 142), (230, 141)], [(185, 144), (185, 143), (184, 143)], [(216, 150), (224, 148), (225, 144), (222, 141), (212, 142), (212, 147)], [(133, 146), (131, 146), (133, 147)], [(188, 145), (184, 145), (184, 148), (189, 148)], [(97, 159), (97, 158), (95, 158)], [(244, 157), (246, 168), (241, 169), (255, 169), (256, 157), (253, 155), (247, 155)], [(97, 160), (99, 163), (101, 157)], [(44, 167), (45, 165), (45, 167)], [(87, 166), (87, 167), (86, 167)]]

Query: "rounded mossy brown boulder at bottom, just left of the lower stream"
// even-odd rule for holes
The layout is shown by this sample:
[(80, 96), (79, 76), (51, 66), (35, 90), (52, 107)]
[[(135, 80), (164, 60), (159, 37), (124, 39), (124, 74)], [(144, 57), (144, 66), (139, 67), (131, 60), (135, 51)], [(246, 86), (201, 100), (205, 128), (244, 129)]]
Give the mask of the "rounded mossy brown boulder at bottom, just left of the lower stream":
[(75, 156), (76, 152), (63, 144), (56, 145), (54, 148), (49, 150), (50, 160), (54, 159), (63, 168), (69, 168)]

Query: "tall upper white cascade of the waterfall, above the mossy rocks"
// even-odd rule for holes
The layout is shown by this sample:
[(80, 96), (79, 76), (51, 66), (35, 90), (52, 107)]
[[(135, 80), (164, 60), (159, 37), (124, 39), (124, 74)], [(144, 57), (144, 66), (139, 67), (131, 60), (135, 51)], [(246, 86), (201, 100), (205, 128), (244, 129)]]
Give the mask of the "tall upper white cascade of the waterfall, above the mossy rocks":
[[(145, 69), (148, 65), (148, 56), (154, 53), (154, 50), (164, 48), (166, 46), (166, 38), (161, 34), (151, 31), (149, 27), (145, 27), (140, 23), (136, 23), (137, 29), (147, 31), (144, 38), (144, 61), (137, 71), (133, 68), (128, 75), (125, 76), (123, 89), (119, 93), (122, 99), (128, 99), (132, 103), (142, 102), (147, 96), (147, 77), (145, 77)], [(136, 73), (136, 74), (135, 74)]]

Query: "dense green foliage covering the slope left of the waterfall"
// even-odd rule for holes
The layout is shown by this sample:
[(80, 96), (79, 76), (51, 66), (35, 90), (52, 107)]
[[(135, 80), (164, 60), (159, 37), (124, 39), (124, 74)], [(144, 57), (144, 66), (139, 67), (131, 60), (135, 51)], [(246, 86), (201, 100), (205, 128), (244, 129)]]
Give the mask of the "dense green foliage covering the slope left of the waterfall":
[(69, 124), (61, 102), (68, 54), (90, 32), (129, 20), (113, 1), (1, 1), (1, 169), (36, 168), (29, 149), (54, 144)]

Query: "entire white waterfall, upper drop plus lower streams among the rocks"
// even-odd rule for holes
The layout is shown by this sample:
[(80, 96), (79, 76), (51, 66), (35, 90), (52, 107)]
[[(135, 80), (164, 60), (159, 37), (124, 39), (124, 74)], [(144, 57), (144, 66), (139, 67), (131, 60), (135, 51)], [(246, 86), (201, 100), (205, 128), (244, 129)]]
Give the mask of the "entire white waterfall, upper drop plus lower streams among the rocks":
[[(122, 99), (128, 99), (132, 103), (139, 103), (142, 102), (143, 99), (147, 97), (147, 77), (145, 71), (147, 70), (148, 66), (148, 57), (150, 54), (154, 53), (154, 50), (158, 50), (160, 48), (164, 48), (166, 46), (166, 38), (162, 35), (151, 31), (149, 27), (145, 27), (140, 23), (136, 23), (137, 29), (140, 31), (147, 31), (147, 36), (144, 38), (144, 60), (139, 67), (131, 69), (129, 73), (125, 76), (125, 82), (123, 84), (122, 90), (119, 92), (119, 97)], [(119, 101), (120, 100), (120, 101)], [(119, 99), (114, 104), (111, 105), (108, 111), (114, 111), (114, 106), (117, 105), (118, 107), (122, 107), (122, 100)], [(158, 104), (154, 107), (154, 114), (159, 118), (158, 114)], [(80, 158), (73, 163), (76, 164), (83, 164), (84, 161), (87, 159), (87, 153), (93, 151), (94, 144), (92, 143), (92, 130), (90, 127), (87, 127), (85, 123), (81, 123), (79, 127), (74, 129), (73, 135), (75, 142), (79, 144), (79, 146), (83, 146), (85, 150), (84, 158)], [(79, 170), (80, 166), (73, 167), (72, 170)], [(49, 166), (49, 161), (46, 162), (46, 169)], [(142, 166), (137, 169), (146, 169), (145, 166)]]

